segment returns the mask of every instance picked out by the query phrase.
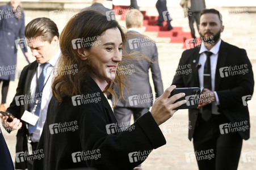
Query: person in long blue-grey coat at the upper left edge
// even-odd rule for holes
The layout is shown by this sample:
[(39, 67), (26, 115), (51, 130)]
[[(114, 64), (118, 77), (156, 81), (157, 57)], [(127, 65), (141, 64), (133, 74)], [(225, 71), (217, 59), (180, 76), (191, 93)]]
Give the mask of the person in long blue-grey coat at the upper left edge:
[(20, 0), (11, 0), (7, 5), (0, 6), (1, 105), (6, 103), (10, 81), (15, 80), (18, 44), (27, 62), (30, 63), (24, 37), (24, 18), (24, 11), (20, 7)]

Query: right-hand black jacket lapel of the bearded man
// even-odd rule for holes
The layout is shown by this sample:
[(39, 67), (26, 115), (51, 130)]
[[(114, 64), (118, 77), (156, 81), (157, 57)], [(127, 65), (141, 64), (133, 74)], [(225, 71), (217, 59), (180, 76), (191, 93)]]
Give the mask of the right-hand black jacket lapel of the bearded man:
[(220, 68), (225, 67), (226, 57), (228, 56), (228, 49), (226, 48), (225, 42), (221, 40), (219, 56), (216, 65), (215, 72), (215, 91), (219, 89), (220, 86)]

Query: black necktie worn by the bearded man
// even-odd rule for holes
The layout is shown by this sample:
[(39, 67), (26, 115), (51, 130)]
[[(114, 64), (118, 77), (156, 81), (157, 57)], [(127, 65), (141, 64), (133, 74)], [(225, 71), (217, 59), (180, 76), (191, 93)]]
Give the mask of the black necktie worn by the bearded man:
[[(204, 88), (212, 90), (212, 78), (211, 78), (211, 60), (210, 56), (212, 52), (204, 52), (206, 54), (206, 61), (204, 63)], [(203, 107), (202, 118), (208, 121), (212, 116), (212, 104), (207, 104)]]

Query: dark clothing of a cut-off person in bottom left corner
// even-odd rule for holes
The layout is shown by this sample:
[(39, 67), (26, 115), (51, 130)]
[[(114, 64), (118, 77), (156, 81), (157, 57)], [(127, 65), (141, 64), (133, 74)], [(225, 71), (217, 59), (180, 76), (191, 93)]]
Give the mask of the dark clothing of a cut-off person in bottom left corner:
[(9, 148), (6, 145), (5, 138), (3, 138), (0, 129), (0, 169), (14, 170), (14, 165), (11, 160)]

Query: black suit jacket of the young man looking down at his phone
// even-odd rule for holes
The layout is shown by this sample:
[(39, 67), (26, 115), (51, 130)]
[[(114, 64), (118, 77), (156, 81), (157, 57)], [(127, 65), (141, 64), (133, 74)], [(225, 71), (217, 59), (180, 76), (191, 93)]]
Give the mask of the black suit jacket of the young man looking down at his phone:
[[(38, 63), (36, 61), (32, 62), (30, 65), (27, 65), (22, 70), (22, 73), (20, 74), (18, 87), (16, 89), (16, 96), (20, 95), (30, 95), (30, 85), (33, 78), (33, 75), (35, 75), (36, 68), (38, 66)], [(7, 109), (7, 112), (12, 113), (16, 118), (20, 120), (22, 117), (24, 111), (28, 111), (30, 109), (30, 106), (25, 103), (24, 105), (16, 105), (15, 97), (12, 100), (10, 107)], [(22, 122), (22, 128), (18, 130), (17, 133), (17, 143), (16, 143), (16, 152), (24, 152), (27, 150), (27, 139), (26, 134), (28, 134), (28, 130), (26, 128), (26, 122), (20, 120)], [(17, 169), (23, 169), (26, 167), (25, 162), (17, 163), (15, 162), (15, 167)]]

